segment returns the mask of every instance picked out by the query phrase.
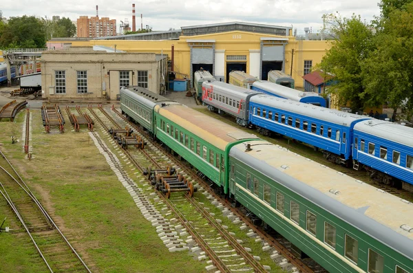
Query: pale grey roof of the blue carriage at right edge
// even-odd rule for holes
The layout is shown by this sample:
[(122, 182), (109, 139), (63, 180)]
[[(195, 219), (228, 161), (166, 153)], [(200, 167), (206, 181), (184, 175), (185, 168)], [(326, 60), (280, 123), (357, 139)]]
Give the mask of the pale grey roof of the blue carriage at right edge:
[(413, 147), (413, 128), (401, 124), (374, 118), (357, 123), (354, 130)]

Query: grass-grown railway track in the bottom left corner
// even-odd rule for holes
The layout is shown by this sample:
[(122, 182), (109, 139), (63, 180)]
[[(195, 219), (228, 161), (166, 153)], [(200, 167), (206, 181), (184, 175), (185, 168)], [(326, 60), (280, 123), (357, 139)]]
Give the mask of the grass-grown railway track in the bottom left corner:
[(1, 151), (0, 193), (50, 272), (91, 272)]

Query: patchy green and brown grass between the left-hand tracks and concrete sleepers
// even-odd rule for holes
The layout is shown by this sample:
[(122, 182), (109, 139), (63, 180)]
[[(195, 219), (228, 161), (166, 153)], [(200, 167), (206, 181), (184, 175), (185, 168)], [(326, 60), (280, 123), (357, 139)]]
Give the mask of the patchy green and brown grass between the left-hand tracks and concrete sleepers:
[[(32, 160), (25, 158), (24, 140), (11, 144), (10, 135), (21, 138), (22, 113), (17, 122), (0, 122), (1, 151), (10, 157), (93, 272), (205, 271), (206, 264), (194, 262), (188, 252), (167, 250), (86, 131), (72, 132), (71, 124), (65, 124), (65, 133), (47, 134), (40, 111), (31, 112)], [(67, 116), (65, 120), (69, 121)], [(0, 218), (3, 215), (8, 216), (8, 226), (19, 226), (4, 200)], [(1, 270), (45, 271), (34, 247), (27, 243), (27, 234), (1, 233), (0, 237), (0, 251), (8, 257)]]

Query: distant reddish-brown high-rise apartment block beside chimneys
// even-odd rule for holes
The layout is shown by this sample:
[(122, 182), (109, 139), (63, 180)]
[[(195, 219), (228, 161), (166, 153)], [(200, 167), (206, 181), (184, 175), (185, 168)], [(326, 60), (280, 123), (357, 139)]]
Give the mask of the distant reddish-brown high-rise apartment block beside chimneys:
[(116, 36), (116, 20), (111, 20), (109, 17), (81, 16), (77, 19), (77, 36), (93, 38)]

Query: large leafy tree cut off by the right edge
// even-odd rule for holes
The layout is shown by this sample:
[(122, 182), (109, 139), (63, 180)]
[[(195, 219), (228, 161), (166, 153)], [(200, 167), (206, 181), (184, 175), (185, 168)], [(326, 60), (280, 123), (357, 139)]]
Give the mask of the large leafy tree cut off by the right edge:
[(377, 49), (362, 65), (363, 85), (369, 94), (368, 105), (388, 103), (396, 110), (413, 111), (413, 3), (393, 9), (374, 37)]

